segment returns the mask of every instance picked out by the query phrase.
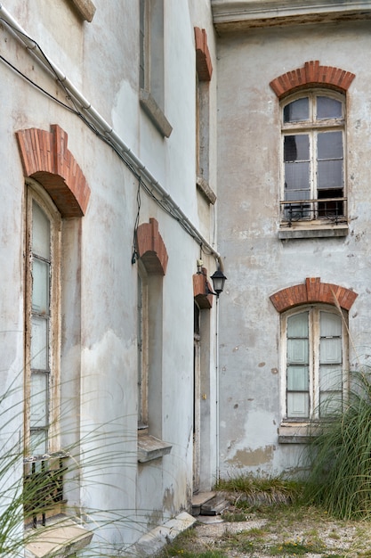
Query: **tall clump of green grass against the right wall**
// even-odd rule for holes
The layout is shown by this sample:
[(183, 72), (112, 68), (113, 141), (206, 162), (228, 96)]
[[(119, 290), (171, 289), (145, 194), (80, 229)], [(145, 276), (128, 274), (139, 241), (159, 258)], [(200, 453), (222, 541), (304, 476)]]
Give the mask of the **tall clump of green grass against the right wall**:
[(343, 519), (371, 517), (371, 375), (351, 373), (343, 408), (313, 436), (307, 497)]

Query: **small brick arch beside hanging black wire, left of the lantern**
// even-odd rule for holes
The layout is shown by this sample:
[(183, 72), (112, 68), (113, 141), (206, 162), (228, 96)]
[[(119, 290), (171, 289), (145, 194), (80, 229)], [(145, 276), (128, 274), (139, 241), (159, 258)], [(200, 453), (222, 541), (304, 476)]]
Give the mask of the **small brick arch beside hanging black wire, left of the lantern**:
[(149, 223), (138, 226), (136, 241), (138, 254), (147, 273), (165, 275), (168, 256), (155, 218), (150, 217)]

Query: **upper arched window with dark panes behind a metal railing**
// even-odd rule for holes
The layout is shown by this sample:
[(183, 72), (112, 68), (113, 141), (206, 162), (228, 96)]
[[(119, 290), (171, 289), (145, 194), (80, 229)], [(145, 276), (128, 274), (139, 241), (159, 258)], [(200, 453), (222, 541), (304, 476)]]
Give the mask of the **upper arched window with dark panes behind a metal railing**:
[(281, 220), (346, 220), (344, 95), (313, 89), (281, 104)]

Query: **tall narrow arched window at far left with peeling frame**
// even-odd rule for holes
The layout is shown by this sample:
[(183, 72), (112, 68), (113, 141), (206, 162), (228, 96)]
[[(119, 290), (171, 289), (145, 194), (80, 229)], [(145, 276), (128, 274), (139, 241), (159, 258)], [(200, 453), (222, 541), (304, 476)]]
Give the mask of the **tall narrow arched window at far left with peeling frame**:
[(26, 455), (59, 447), (60, 212), (28, 185), (26, 268)]

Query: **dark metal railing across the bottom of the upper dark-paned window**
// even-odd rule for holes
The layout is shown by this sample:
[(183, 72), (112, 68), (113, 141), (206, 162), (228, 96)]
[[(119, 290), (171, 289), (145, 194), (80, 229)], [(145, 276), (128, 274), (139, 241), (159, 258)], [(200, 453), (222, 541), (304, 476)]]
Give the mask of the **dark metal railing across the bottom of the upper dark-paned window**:
[(291, 226), (296, 221), (327, 219), (334, 225), (346, 221), (347, 198), (280, 201), (281, 219)]

